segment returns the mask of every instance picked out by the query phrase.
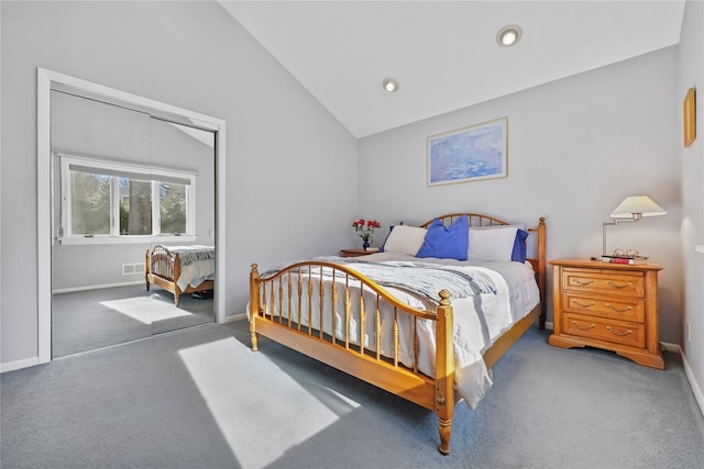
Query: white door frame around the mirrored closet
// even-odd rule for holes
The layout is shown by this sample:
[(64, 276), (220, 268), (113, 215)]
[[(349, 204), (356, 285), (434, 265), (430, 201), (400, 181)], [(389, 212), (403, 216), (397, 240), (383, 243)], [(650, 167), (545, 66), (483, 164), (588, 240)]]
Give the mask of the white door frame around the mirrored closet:
[(216, 286), (215, 317), (226, 322), (226, 122), (222, 119), (132, 94), (69, 75), (36, 69), (36, 198), (37, 198), (37, 358), (52, 360), (52, 143), (51, 93), (67, 91), (84, 98), (148, 112), (167, 121), (216, 134)]

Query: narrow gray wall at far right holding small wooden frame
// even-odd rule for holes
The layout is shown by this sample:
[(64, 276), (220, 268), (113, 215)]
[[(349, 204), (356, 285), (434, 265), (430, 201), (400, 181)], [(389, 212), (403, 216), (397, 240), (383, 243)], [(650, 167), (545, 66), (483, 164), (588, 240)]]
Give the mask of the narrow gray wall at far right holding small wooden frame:
[[(678, 158), (682, 166), (682, 276), (684, 286), (684, 311), (682, 348), (691, 372), (698, 383), (700, 405), (704, 405), (704, 254), (695, 253), (695, 245), (704, 245), (704, 3), (688, 1), (682, 23), (679, 48), (678, 101)], [(682, 144), (682, 101), (686, 90), (696, 87), (696, 139), (691, 147)], [(690, 324), (690, 337), (686, 324)]]

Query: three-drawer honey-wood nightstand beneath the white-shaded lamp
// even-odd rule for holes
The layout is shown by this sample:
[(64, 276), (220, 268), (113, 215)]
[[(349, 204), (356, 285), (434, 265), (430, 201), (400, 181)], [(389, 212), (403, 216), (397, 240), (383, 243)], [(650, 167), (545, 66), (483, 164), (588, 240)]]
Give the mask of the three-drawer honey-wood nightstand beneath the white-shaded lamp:
[(554, 324), (550, 345), (588, 345), (664, 369), (658, 334), (658, 271), (662, 266), (578, 259), (550, 264)]

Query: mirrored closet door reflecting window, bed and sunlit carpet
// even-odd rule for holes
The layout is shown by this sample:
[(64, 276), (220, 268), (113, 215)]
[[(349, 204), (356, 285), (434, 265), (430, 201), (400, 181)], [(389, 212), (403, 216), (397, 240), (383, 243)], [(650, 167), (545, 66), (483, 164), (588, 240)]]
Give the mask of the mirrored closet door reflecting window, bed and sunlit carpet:
[(52, 357), (215, 321), (215, 134), (51, 96)]

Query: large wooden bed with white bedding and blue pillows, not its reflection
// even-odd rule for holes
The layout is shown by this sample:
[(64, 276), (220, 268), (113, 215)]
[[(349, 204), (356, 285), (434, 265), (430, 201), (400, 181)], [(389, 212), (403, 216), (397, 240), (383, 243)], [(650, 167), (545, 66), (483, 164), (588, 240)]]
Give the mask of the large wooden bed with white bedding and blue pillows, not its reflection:
[[(469, 225), (468, 260), (416, 257), (431, 231), (451, 232), (460, 221)], [(265, 336), (433, 411), (438, 449), (449, 455), (454, 405), (464, 400), (475, 407), (491, 388), (491, 367), (536, 321), (544, 327), (544, 219), (535, 227), (506, 230), (514, 226), (488, 215), (452, 213), (413, 227), (418, 239), (387, 249), (392, 237), (400, 236), (395, 227), (380, 254), (320, 257), (262, 273), (253, 264), (252, 349), (258, 349), (258, 335)], [(510, 233), (514, 254), (520, 245), (524, 261), (512, 260), (514, 254), (498, 260), (471, 255), (472, 246), (493, 239), (506, 245)], [(519, 239), (518, 233), (525, 235)], [(418, 243), (422, 246), (413, 255)], [(404, 283), (405, 276), (410, 281)], [(514, 281), (521, 286), (509, 287)], [(518, 297), (526, 300), (519, 306)], [(476, 315), (494, 303), (501, 306), (496, 313)]]

